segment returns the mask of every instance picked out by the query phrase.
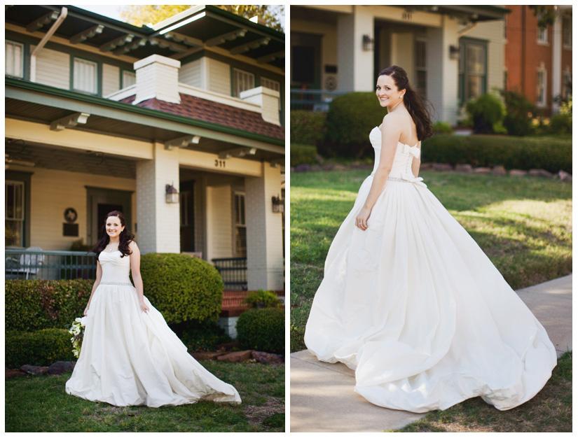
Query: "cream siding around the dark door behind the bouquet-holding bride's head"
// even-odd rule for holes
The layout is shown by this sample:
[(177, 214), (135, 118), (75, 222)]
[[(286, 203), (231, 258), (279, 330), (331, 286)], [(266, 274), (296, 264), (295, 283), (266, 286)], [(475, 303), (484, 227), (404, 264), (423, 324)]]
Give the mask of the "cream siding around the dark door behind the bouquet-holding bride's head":
[[(30, 235), (31, 246), (43, 250), (69, 250), (71, 243), (83, 239), (87, 242), (88, 222), (86, 187), (115, 190), (135, 190), (135, 180), (77, 172), (34, 168), (30, 188)], [(64, 211), (76, 210), (78, 236), (62, 236)], [(135, 197), (132, 199), (132, 217), (136, 218)], [(134, 224), (132, 224), (134, 230)]]

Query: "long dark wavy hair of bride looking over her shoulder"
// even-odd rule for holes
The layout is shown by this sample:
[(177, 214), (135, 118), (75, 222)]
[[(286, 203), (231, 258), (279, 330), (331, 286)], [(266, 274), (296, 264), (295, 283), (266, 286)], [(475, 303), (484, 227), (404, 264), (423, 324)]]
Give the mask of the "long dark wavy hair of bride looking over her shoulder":
[(415, 129), (418, 132), (418, 140), (424, 141), (433, 136), (434, 128), (432, 127), (432, 116), (424, 102), (426, 102), (430, 107), (432, 107), (432, 104), (426, 97), (422, 97), (418, 92), (412, 90), (409, 85), (406, 71), (400, 66), (392, 65), (387, 67), (387, 69), (380, 71), (378, 77), (382, 75), (390, 76), (390, 78), (393, 79), (397, 90), (406, 90), (404, 105), (415, 123)]

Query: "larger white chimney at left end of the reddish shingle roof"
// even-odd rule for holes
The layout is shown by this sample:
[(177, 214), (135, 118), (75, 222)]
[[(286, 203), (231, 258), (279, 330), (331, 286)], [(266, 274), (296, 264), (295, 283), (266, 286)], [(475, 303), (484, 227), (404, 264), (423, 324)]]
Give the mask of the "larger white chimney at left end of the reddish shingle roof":
[(160, 55), (151, 55), (135, 62), (137, 95), (133, 105), (147, 99), (180, 104), (179, 68), (181, 62)]

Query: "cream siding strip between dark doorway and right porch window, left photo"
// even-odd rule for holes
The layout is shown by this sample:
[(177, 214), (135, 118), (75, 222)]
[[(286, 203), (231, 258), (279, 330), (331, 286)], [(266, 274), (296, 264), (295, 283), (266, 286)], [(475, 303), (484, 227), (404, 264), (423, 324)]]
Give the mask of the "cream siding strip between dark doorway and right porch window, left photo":
[(230, 185), (207, 187), (207, 260), (233, 256)]

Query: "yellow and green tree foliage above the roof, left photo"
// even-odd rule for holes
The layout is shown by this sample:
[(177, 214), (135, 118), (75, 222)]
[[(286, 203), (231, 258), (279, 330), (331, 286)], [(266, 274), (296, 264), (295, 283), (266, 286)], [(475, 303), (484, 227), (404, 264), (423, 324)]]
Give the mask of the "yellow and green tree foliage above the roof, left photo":
[[(167, 18), (191, 8), (194, 5), (128, 5), (121, 8), (121, 18), (135, 26), (156, 24)], [(284, 14), (283, 5), (215, 5), (217, 8), (245, 18), (259, 15), (265, 25), (277, 31), (284, 31), (282, 23), (277, 18)]]

